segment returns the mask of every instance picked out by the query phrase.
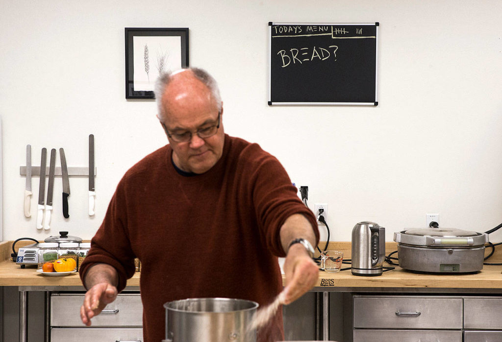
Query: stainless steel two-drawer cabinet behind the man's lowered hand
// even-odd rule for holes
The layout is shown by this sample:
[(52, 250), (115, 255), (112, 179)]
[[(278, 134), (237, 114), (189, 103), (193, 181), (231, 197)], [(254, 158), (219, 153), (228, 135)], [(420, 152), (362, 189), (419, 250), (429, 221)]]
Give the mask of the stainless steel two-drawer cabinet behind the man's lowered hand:
[(80, 320), (84, 293), (52, 293), (51, 342), (142, 341), (143, 305), (139, 293), (122, 293), (87, 327)]

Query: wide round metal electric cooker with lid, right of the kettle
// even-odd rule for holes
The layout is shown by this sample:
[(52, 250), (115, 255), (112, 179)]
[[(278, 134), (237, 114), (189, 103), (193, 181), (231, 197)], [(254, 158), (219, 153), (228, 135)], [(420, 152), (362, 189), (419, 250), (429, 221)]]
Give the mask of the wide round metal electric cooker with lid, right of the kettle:
[(483, 268), (486, 233), (417, 228), (394, 233), (399, 266), (420, 272), (463, 273)]

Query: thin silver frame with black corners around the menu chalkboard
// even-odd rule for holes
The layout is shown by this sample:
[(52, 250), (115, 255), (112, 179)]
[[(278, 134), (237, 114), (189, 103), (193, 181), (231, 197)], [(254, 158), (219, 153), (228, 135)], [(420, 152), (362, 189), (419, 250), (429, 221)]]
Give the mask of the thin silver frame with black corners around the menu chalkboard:
[[(273, 102), (272, 101), (272, 26), (273, 25), (374, 25), (375, 30), (375, 101), (374, 102)], [(378, 39), (379, 39), (379, 27), (380, 23), (276, 23), (269, 22), (269, 106), (298, 106), (298, 105), (315, 105), (315, 106), (378, 106)]]

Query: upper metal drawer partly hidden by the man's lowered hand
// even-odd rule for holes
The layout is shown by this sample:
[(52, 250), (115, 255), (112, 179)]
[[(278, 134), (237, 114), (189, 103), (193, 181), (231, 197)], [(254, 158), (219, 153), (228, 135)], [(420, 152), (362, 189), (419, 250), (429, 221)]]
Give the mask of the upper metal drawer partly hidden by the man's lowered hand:
[[(51, 326), (84, 326), (80, 319), (83, 294), (51, 296)], [(143, 305), (140, 294), (119, 294), (115, 301), (91, 319), (92, 326), (142, 326)]]

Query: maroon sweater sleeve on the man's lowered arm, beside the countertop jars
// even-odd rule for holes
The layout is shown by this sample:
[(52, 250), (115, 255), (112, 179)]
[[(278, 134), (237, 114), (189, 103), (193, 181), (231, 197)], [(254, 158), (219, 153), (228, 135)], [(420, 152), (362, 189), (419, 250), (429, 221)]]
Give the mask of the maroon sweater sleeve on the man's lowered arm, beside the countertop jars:
[(127, 279), (135, 272), (135, 254), (129, 242), (127, 230), (127, 196), (124, 179), (113, 195), (103, 223), (91, 240), (91, 248), (80, 266), (82, 282), (89, 267), (96, 263), (113, 266), (118, 273), (117, 290), (126, 287)]

